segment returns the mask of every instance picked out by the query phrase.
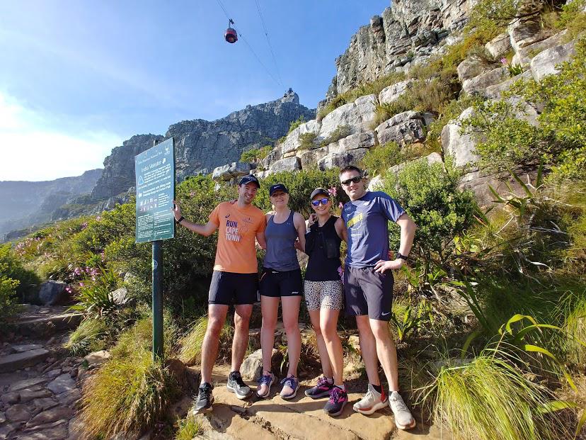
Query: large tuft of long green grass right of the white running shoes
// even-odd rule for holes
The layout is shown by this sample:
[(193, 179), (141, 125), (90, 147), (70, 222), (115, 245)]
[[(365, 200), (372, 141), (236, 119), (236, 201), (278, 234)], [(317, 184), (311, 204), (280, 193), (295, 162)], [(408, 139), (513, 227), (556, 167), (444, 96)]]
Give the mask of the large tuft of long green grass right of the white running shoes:
[(435, 419), (456, 439), (570, 438), (546, 411), (551, 405), (548, 390), (490, 352), (462, 366), (441, 368), (431, 393)]

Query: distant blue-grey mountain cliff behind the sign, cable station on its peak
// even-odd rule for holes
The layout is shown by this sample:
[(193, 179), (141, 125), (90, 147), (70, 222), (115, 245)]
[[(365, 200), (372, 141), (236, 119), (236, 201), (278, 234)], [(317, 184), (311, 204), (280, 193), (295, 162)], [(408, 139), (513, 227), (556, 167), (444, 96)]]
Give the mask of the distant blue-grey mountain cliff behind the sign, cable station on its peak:
[(289, 89), (276, 101), (246, 106), (222, 119), (184, 120), (171, 125), (164, 136), (133, 136), (105, 159), (103, 176), (91, 196), (99, 201), (134, 186), (134, 156), (152, 147), (153, 141), (174, 137), (176, 174), (181, 181), (203, 170), (238, 161), (243, 151), (271, 144), (286, 135), (289, 124), (300, 116), (311, 120), (315, 111), (301, 106), (299, 96)]

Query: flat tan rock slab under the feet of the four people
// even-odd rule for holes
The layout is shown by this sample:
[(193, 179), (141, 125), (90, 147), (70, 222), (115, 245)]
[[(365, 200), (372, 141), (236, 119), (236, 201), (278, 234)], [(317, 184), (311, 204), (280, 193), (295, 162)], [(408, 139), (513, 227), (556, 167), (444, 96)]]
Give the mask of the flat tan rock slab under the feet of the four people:
[[(273, 385), (269, 399), (238, 400), (226, 389), (227, 366), (214, 369), (213, 410), (199, 415), (203, 433), (196, 439), (450, 439), (437, 427), (418, 424), (412, 431), (400, 431), (393, 422), (391, 410), (364, 416), (352, 410), (352, 404), (362, 397), (357, 388), (363, 383), (350, 383), (350, 402), (340, 417), (329, 417), (322, 408), (326, 400), (311, 400), (304, 390), (311, 383), (301, 383), (299, 393), (292, 400), (283, 400), (278, 395), (279, 387)], [(185, 401), (184, 405), (190, 405)]]

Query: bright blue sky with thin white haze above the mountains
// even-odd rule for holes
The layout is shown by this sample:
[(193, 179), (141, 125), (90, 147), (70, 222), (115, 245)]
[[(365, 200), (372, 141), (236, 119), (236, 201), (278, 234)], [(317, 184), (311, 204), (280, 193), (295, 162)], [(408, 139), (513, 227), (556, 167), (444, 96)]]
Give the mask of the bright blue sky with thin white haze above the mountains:
[(0, 180), (79, 175), (134, 134), (222, 118), (289, 87), (314, 108), (335, 57), (390, 4), (221, 3), (270, 74), (242, 39), (224, 42), (217, 0), (0, 2)]

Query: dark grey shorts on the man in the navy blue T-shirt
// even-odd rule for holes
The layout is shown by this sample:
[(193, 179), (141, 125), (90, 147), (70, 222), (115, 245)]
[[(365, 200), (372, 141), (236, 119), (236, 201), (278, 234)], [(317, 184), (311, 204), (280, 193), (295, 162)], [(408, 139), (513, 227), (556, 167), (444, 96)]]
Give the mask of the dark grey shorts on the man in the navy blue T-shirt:
[(346, 315), (368, 315), (372, 320), (389, 321), (393, 306), (393, 273), (377, 273), (374, 267), (344, 269)]

